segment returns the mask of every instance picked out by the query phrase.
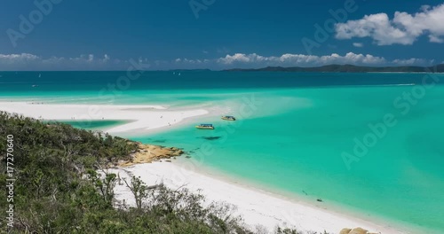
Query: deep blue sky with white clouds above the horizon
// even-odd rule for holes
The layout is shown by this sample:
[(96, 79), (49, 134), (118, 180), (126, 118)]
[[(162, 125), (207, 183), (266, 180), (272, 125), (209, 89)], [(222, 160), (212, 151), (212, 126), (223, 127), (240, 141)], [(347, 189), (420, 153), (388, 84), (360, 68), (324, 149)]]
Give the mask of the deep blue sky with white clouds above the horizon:
[(9, 0), (0, 15), (2, 70), (444, 61), (442, 1)]

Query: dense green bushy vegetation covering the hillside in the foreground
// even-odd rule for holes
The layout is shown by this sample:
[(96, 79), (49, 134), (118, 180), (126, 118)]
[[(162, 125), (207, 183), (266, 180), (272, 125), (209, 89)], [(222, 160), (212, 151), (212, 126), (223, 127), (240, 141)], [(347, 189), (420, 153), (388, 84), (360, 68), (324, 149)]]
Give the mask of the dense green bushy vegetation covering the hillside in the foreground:
[[(129, 140), (44, 123), (0, 112), (0, 169), (5, 172), (7, 136), (13, 135), (14, 216), (10, 233), (254, 233), (224, 204), (203, 206), (201, 194), (140, 178), (125, 182), (137, 207), (115, 207), (115, 174), (99, 173), (128, 160), (137, 144)], [(11, 147), (11, 145), (9, 146)], [(5, 188), (7, 175), (0, 174)], [(0, 199), (1, 207), (8, 207)], [(4, 213), (5, 214), (5, 213)], [(6, 231), (2, 218), (1, 232)], [(276, 233), (297, 233), (276, 230)]]

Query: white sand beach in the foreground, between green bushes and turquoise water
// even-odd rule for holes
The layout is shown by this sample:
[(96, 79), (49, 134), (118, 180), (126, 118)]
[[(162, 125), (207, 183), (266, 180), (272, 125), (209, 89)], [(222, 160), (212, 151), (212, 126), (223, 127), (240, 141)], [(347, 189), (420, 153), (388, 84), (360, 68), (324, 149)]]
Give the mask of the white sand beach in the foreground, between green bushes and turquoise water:
[[(176, 189), (185, 185), (191, 191), (202, 190), (208, 201), (225, 201), (237, 207), (236, 214), (242, 214), (247, 225), (254, 228), (260, 224), (267, 230), (277, 225), (297, 230), (312, 230), (323, 233), (339, 233), (343, 228), (361, 227), (372, 233), (408, 233), (394, 227), (364, 221), (352, 215), (339, 214), (324, 207), (316, 207), (304, 202), (285, 199), (266, 191), (247, 187), (240, 183), (216, 179), (204, 173), (187, 168), (193, 166), (182, 162), (154, 162), (138, 164), (128, 168), (114, 168), (109, 172), (131, 180), (131, 175), (140, 176), (149, 185), (164, 183)], [(116, 199), (126, 205), (135, 206), (131, 191), (122, 183), (115, 187)]]

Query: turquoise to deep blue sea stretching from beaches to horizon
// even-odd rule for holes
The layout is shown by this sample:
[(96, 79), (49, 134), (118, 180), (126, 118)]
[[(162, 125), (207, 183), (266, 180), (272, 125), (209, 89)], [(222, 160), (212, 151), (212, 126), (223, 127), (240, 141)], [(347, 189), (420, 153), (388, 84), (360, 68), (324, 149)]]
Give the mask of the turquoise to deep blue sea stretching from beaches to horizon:
[[(95, 80), (79, 78), (75, 90), (57, 82), (60, 74), (52, 74), (52, 86), (38, 91), (6, 84), (0, 86), (0, 98), (202, 105), (233, 114), (238, 121), (199, 120), (213, 123), (213, 131), (194, 129), (200, 122), (190, 122), (132, 138), (183, 147), (204, 167), (271, 191), (321, 198), (429, 233), (444, 232), (444, 86), (422, 90), (425, 74), (199, 72), (178, 79), (154, 72), (113, 101), (97, 93), (117, 74), (99, 74), (86, 75)], [(21, 83), (36, 82), (28, 76), (20, 76)], [(433, 77), (444, 81), (444, 75)], [(417, 85), (399, 85), (412, 83)], [(416, 96), (408, 96), (412, 91)], [(379, 127), (377, 134), (369, 125)], [(366, 153), (353, 153), (355, 141), (369, 145)]]

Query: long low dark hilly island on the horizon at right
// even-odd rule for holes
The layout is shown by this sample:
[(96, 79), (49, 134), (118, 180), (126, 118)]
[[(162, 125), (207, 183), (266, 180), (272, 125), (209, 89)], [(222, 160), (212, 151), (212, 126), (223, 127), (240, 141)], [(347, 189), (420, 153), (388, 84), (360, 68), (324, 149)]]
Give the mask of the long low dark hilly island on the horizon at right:
[(444, 64), (437, 66), (266, 66), (263, 68), (233, 68), (228, 72), (312, 72), (312, 73), (444, 73)]

